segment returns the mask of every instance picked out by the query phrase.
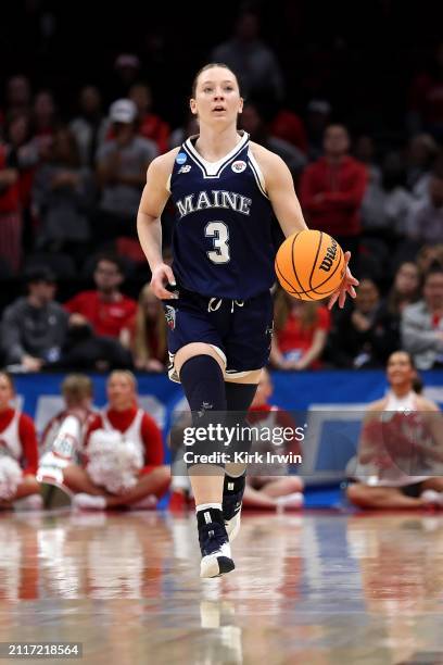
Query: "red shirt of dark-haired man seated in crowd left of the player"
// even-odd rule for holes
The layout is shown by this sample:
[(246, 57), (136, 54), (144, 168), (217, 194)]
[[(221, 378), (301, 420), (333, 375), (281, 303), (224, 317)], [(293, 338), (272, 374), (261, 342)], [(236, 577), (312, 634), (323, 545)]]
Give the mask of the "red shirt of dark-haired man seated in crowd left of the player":
[(69, 314), (83, 314), (97, 335), (118, 338), (121, 330), (129, 326), (137, 303), (123, 294), (114, 302), (105, 302), (99, 291), (81, 291), (65, 302), (64, 308)]

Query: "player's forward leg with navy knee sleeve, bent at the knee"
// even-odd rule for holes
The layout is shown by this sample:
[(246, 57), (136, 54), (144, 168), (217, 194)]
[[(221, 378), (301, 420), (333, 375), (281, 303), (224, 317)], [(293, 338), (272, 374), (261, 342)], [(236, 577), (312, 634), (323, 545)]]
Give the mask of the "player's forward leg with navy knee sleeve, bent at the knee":
[[(208, 343), (191, 342), (175, 354), (175, 369), (189, 402), (193, 426), (207, 426), (226, 412), (225, 363)], [(207, 441), (194, 444), (194, 454), (211, 452)], [(216, 577), (235, 568), (221, 512), (224, 465), (189, 464), (189, 479), (195, 499), (199, 541), (202, 552), (201, 577)]]

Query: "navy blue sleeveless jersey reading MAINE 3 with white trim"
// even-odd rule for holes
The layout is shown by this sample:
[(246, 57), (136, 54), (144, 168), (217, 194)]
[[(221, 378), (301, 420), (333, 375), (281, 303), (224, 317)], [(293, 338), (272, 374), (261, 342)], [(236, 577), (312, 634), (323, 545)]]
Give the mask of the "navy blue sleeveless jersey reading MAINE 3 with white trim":
[(202, 296), (248, 299), (275, 280), (273, 209), (251, 153), (249, 135), (216, 163), (180, 148), (170, 176), (176, 205), (173, 271)]

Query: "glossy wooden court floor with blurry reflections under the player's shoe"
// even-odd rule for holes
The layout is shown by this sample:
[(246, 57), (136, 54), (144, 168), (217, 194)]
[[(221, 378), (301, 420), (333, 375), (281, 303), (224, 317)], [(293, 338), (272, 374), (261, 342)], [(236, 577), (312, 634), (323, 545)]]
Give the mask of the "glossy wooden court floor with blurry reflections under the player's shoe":
[(0, 543), (0, 641), (98, 665), (443, 662), (440, 515), (246, 515), (213, 580), (192, 515), (3, 514)]

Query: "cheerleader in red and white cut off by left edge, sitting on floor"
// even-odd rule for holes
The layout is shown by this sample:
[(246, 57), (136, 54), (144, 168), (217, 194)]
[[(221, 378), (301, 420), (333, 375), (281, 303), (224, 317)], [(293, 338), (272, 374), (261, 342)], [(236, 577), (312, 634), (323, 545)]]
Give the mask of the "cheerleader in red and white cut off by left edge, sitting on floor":
[[(31, 418), (11, 406), (14, 384), (7, 372), (0, 372), (0, 509), (40, 509), (40, 486), (36, 480), (38, 449)], [(26, 498), (26, 500), (25, 500)]]

